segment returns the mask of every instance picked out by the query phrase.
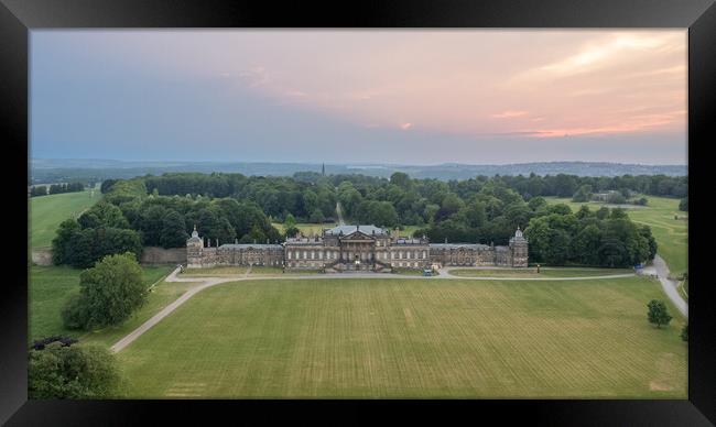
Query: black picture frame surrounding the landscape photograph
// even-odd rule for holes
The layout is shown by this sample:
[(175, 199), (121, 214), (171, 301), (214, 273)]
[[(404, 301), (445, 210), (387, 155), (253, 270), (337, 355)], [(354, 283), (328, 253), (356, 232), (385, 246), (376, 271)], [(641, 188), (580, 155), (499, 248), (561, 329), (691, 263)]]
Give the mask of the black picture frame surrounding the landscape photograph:
[[(29, 248), (19, 225), (28, 219), (29, 34), (35, 29), (100, 28), (673, 28), (688, 29), (690, 342), (687, 401), (28, 401), (26, 330)], [(150, 417), (204, 423), (217, 414), (235, 423), (247, 417), (274, 421), (370, 423), (376, 409), (397, 410), (399, 420), (471, 423), (497, 416), (549, 425), (716, 424), (716, 285), (708, 281), (709, 144), (716, 142), (716, 6), (712, 0), (509, 0), (326, 4), (270, 1), (0, 0), (0, 129), (3, 221), (3, 284), (0, 291), (2, 360), (0, 423), (8, 425), (134, 425)], [(713, 173), (713, 172), (712, 172)], [(702, 197), (695, 195), (703, 189)], [(336, 414), (338, 412), (339, 414)], [(330, 414), (330, 415), (327, 415)], [(361, 423), (361, 424), (362, 424)]]

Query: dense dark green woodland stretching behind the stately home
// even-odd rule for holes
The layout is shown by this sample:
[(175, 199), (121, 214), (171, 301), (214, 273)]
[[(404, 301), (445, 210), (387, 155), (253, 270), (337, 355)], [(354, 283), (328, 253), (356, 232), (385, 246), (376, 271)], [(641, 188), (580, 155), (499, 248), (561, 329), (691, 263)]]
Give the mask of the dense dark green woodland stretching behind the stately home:
[[(172, 173), (108, 179), (101, 191), (102, 201), (61, 226), (55, 262), (86, 266), (108, 253), (141, 252), (132, 249), (138, 245), (183, 247), (194, 225), (213, 244), (279, 242), (285, 236), (272, 222), (334, 221), (339, 202), (350, 221), (416, 226), (415, 234), (432, 241), (507, 244), (520, 226), (530, 239), (531, 262), (627, 266), (653, 258), (655, 242), (647, 227), (631, 222), (621, 209), (573, 214), (565, 205), (549, 206), (543, 196), (614, 191), (683, 198), (687, 177), (533, 174), (442, 182), (400, 172), (389, 179)], [(68, 250), (77, 245), (85, 249)]]

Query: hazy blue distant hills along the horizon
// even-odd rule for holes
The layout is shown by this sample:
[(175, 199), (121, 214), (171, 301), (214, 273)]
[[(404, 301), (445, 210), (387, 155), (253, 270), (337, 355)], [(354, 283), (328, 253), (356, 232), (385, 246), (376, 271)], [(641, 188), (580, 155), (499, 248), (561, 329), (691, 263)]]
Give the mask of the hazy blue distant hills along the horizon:
[[(108, 178), (131, 178), (140, 175), (161, 175), (167, 172), (224, 172), (245, 175), (290, 176), (296, 172), (321, 172), (319, 163), (271, 162), (128, 162), (112, 160), (31, 160), (31, 184), (72, 180), (100, 182)], [(397, 164), (326, 164), (326, 174), (362, 174), (389, 177), (404, 172), (414, 178), (467, 179), (477, 175), (556, 175), (621, 176), (668, 175), (683, 176), (686, 165), (639, 165), (606, 162), (538, 162), (508, 165), (469, 165), (445, 163), (440, 165)]]

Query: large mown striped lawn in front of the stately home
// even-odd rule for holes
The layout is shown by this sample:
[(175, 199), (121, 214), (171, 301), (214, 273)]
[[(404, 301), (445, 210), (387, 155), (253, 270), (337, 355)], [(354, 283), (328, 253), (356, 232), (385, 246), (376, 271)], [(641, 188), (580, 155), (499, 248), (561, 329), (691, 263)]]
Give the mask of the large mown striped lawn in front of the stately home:
[(682, 325), (643, 277), (246, 281), (118, 357), (129, 397), (685, 398)]

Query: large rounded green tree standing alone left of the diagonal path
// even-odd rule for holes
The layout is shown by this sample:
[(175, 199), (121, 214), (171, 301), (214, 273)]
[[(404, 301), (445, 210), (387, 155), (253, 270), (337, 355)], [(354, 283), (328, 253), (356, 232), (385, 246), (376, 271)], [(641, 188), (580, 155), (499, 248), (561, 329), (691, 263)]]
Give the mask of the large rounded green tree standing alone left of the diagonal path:
[(147, 300), (142, 269), (132, 253), (109, 255), (79, 275), (79, 296), (62, 317), (70, 329), (91, 330), (120, 325)]

